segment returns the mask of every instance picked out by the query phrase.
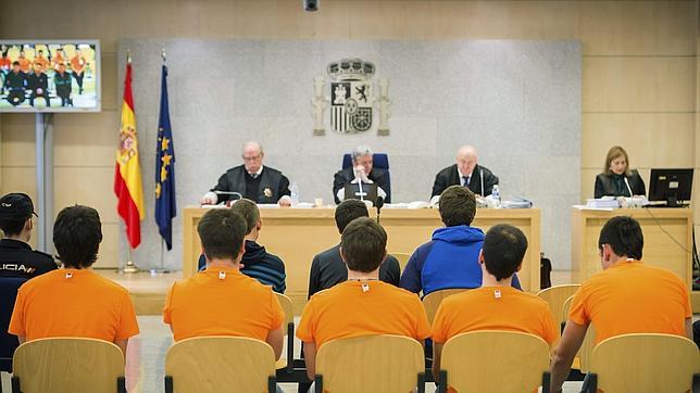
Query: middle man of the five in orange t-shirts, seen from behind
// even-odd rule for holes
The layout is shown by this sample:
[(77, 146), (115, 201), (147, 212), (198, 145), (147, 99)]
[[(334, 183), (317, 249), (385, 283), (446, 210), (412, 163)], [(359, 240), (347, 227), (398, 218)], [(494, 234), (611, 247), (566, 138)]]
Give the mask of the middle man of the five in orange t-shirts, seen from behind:
[(304, 343), (307, 373), (315, 376), (316, 350), (334, 339), (372, 334), (405, 335), (423, 342), (430, 327), (421, 300), (379, 281), (387, 233), (375, 220), (352, 220), (340, 238), (348, 281), (314, 294), (301, 315), (297, 337)]

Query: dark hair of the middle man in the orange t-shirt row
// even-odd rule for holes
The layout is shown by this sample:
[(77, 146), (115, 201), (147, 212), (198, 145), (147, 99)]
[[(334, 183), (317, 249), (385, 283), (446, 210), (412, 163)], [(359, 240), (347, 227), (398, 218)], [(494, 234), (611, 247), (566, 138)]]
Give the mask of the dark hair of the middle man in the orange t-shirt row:
[(376, 270), (387, 248), (387, 232), (374, 219), (353, 219), (340, 237), (340, 249), (348, 269), (361, 272)]

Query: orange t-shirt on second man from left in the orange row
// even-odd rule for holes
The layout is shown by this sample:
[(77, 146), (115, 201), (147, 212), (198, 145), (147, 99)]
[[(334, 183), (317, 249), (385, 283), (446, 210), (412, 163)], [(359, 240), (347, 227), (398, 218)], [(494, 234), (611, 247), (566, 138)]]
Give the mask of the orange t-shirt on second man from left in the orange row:
[(270, 287), (237, 268), (213, 267), (177, 281), (167, 292), (163, 321), (175, 341), (203, 335), (235, 335), (265, 341), (285, 321)]

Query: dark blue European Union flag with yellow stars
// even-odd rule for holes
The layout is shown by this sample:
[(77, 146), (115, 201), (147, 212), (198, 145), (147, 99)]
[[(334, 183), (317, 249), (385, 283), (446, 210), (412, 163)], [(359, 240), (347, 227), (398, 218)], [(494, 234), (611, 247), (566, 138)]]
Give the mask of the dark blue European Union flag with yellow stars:
[(161, 114), (158, 121), (155, 143), (155, 224), (165, 240), (167, 250), (173, 249), (173, 217), (175, 204), (175, 147), (167, 105), (167, 66), (163, 64), (161, 76)]

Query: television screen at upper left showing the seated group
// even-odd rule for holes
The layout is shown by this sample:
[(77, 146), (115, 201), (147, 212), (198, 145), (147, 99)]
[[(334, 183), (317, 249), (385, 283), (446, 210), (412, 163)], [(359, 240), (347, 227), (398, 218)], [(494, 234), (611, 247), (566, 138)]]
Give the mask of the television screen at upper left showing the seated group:
[(100, 112), (100, 42), (0, 40), (0, 112)]

